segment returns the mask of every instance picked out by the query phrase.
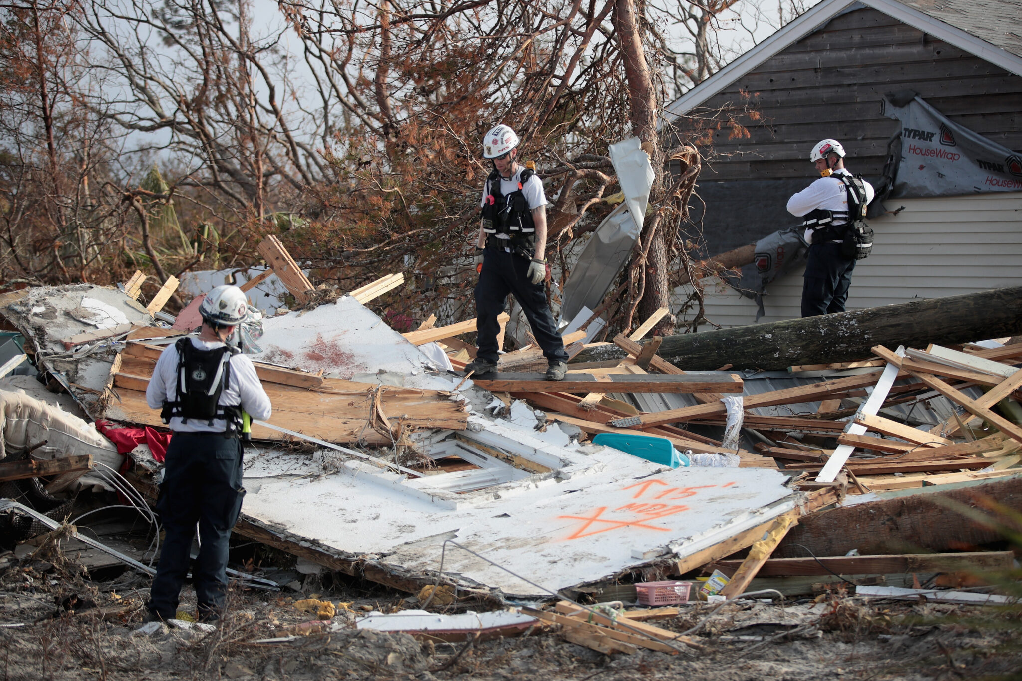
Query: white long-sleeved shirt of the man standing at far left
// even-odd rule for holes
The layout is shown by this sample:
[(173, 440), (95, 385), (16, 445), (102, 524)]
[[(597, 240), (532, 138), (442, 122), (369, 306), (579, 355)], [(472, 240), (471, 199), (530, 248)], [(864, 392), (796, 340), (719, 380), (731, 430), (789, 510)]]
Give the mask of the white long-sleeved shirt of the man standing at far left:
[[(222, 347), (224, 343), (216, 341), (200, 341), (195, 337), (189, 339), (194, 347), (200, 350), (212, 350)], [(231, 374), (227, 379), (227, 385), (220, 393), (218, 404), (238, 404), (248, 412), (252, 419), (266, 421), (273, 412), (270, 404), (270, 397), (263, 389), (259, 376), (256, 375), (256, 367), (252, 360), (246, 355), (238, 353), (231, 356)], [(173, 402), (178, 398), (178, 348), (173, 345), (167, 346), (164, 353), (156, 360), (156, 366), (152, 370), (152, 378), (149, 379), (149, 387), (145, 390), (145, 401), (150, 408), (161, 409), (164, 402)], [(171, 430), (179, 433), (222, 433), (227, 430), (227, 423), (223, 419), (214, 419), (213, 425), (202, 419), (189, 419), (188, 423), (182, 423), (181, 417), (171, 417)]]

